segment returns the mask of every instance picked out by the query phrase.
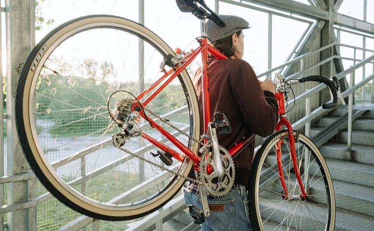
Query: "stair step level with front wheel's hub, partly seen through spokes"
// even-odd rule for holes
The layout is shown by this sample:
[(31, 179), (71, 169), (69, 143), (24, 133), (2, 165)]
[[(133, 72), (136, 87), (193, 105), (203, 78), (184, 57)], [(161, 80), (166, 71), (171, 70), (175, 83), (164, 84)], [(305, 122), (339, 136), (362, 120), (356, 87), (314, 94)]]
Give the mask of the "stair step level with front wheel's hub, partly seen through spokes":
[[(315, 178), (316, 177), (318, 176), (315, 176)], [(324, 182), (314, 182), (314, 179), (311, 179), (309, 183), (309, 185), (311, 185), (310, 194), (317, 196), (313, 197), (314, 201), (326, 203), (326, 198), (318, 197), (319, 192), (324, 191)], [(337, 180), (333, 181), (333, 185), (336, 207), (374, 216), (374, 188)], [(320, 196), (323, 195), (324, 194), (320, 193)], [(326, 194), (324, 196), (326, 196)]]

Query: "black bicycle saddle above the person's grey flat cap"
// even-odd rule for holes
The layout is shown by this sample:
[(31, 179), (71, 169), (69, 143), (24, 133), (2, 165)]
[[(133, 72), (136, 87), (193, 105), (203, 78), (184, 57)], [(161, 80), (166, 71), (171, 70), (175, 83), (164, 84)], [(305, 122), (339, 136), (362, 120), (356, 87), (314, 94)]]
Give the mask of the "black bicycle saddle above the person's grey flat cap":
[(198, 19), (210, 19), (220, 27), (225, 27), (225, 22), (214, 11), (209, 9), (204, 0), (175, 0), (181, 12), (191, 12)]

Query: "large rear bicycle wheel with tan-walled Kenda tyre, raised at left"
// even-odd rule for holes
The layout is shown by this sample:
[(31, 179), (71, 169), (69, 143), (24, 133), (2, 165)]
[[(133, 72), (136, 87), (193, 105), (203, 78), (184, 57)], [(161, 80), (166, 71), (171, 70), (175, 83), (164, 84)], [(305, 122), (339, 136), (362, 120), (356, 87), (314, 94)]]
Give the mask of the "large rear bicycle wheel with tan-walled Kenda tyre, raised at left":
[[(149, 29), (105, 15), (67, 22), (33, 49), (17, 89), (18, 133), (36, 176), (61, 202), (91, 217), (126, 220), (155, 211), (180, 192), (185, 179), (159, 167), (163, 162), (149, 154), (157, 151), (150, 142), (134, 137), (123, 148), (157, 166), (113, 146), (111, 135), (120, 128), (107, 109), (114, 91), (137, 95), (156, 81), (167, 54), (175, 55)], [(110, 109), (123, 97), (131, 96), (118, 93), (111, 98)], [(199, 136), (198, 104), (186, 71), (146, 108), (182, 130), (186, 135), (158, 121), (197, 151), (192, 138)], [(139, 124), (143, 132), (173, 147), (146, 121)], [(166, 167), (187, 176), (192, 164), (184, 158)]]

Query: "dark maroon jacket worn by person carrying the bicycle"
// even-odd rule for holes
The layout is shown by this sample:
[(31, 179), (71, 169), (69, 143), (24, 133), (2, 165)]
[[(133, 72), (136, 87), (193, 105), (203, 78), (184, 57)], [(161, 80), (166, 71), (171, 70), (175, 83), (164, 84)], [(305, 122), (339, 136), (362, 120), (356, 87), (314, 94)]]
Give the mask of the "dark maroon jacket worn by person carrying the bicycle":
[[(257, 76), (247, 62), (240, 59), (208, 60), (211, 118), (221, 111), (226, 115), (232, 132), (218, 136), (218, 143), (231, 148), (244, 136), (262, 137), (274, 132), (278, 121), (278, 103), (273, 93), (262, 91)], [(203, 134), (203, 88), (201, 69), (193, 78), (199, 100), (201, 130)], [(236, 184), (249, 185), (250, 169), (254, 158), (255, 142), (234, 157)]]

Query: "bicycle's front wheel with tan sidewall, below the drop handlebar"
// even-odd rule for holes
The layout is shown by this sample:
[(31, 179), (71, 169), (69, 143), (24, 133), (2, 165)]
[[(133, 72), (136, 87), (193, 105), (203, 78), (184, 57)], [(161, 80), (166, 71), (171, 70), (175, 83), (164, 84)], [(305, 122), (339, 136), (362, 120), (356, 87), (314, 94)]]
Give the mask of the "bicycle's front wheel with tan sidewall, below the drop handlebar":
[[(294, 134), (296, 134), (294, 132)], [(282, 168), (289, 197), (284, 197), (277, 166), (276, 145), (282, 151)], [(256, 154), (251, 169), (250, 211), (255, 230), (334, 230), (335, 197), (326, 162), (316, 145), (302, 134), (295, 150), (307, 199), (300, 197), (288, 132), (270, 136)]]

